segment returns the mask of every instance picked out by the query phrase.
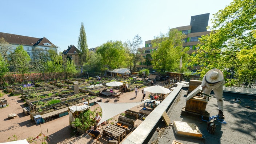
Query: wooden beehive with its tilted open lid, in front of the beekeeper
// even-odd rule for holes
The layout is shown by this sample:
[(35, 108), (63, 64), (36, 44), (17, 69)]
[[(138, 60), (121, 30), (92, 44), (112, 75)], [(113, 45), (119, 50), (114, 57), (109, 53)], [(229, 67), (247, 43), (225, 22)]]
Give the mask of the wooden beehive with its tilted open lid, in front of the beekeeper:
[(207, 101), (204, 97), (195, 96), (202, 91), (201, 85), (195, 88), (186, 98), (185, 111), (191, 111), (199, 114), (204, 114)]

